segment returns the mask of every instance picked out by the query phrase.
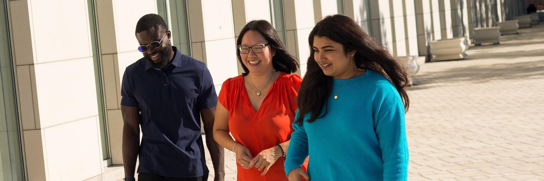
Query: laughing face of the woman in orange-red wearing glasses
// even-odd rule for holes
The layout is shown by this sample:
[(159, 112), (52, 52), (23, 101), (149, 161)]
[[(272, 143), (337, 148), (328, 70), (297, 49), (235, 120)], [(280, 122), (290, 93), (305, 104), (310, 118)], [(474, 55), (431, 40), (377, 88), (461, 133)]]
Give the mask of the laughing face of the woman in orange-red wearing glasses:
[[(256, 30), (248, 30), (242, 37), (241, 45), (254, 46), (266, 43), (268, 43), (268, 41), (264, 39), (264, 36), (261, 33)], [(276, 51), (273, 50), (270, 45), (267, 45), (263, 48), (263, 52), (261, 53), (255, 53), (250, 48), (249, 53), (239, 54), (242, 62), (248, 67), (250, 73), (267, 74), (274, 70), (274, 67), (272, 66), (272, 57), (274, 57), (275, 53)]]

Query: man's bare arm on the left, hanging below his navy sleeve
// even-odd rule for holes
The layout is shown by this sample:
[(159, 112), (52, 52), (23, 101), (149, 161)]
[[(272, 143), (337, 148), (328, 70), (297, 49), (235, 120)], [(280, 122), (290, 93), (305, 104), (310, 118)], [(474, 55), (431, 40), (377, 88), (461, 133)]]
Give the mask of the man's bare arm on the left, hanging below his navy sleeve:
[(125, 178), (134, 177), (136, 160), (140, 149), (140, 110), (138, 107), (121, 105), (123, 115), (123, 166)]

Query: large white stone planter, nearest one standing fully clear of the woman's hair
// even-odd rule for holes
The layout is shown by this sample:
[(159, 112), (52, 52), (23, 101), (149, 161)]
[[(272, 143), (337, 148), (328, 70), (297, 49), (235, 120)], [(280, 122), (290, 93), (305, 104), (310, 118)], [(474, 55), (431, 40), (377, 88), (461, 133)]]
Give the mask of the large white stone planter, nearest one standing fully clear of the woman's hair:
[(432, 54), (431, 61), (458, 60), (467, 57), (465, 51), (468, 49), (468, 42), (464, 36), (431, 41), (429, 46)]

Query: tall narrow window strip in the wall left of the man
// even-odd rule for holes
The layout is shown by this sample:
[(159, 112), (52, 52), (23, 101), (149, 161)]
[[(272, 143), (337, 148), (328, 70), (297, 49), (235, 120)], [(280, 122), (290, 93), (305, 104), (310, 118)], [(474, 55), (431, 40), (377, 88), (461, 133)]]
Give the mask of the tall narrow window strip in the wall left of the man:
[(100, 125), (100, 140), (102, 147), (102, 160), (104, 161), (103, 165), (110, 165), (110, 153), (109, 153), (109, 139), (108, 139), (108, 124), (106, 121), (106, 107), (104, 106), (104, 91), (103, 91), (103, 82), (102, 82), (102, 64), (100, 60), (100, 48), (98, 48), (98, 36), (97, 36), (97, 26), (96, 26), (96, 10), (95, 10), (95, 0), (88, 0), (87, 7), (89, 8), (89, 27), (91, 32), (91, 43), (92, 43), (92, 60), (94, 61), (95, 68), (95, 82), (96, 82), (96, 98), (98, 104), (98, 124)]

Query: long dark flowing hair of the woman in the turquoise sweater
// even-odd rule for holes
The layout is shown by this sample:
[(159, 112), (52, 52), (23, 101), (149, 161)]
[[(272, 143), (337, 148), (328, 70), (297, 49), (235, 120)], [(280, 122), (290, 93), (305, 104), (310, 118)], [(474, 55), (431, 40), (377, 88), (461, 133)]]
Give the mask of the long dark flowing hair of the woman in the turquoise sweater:
[[(354, 57), (357, 68), (372, 70), (388, 78), (403, 99), (405, 111), (408, 110), (410, 100), (404, 90), (408, 78), (403, 66), (384, 46), (381, 46), (372, 36), (364, 32), (352, 18), (345, 15), (331, 15), (319, 21), (308, 37), (310, 57), (308, 57), (307, 72), (300, 85), (297, 98), (299, 117), (294, 123), (302, 126), (304, 115), (308, 113), (311, 115), (307, 122), (313, 122), (320, 118), (321, 110), (324, 106), (327, 107), (327, 98), (332, 90), (332, 77), (326, 76), (314, 60), (312, 48), (314, 36), (325, 36), (332, 41), (341, 43), (344, 46), (345, 54), (355, 50)], [(325, 113), (321, 117), (326, 114), (327, 109), (325, 109)]]

